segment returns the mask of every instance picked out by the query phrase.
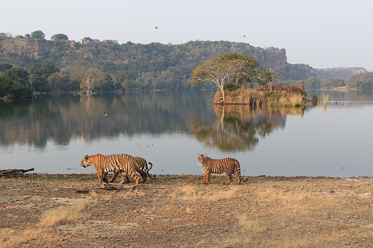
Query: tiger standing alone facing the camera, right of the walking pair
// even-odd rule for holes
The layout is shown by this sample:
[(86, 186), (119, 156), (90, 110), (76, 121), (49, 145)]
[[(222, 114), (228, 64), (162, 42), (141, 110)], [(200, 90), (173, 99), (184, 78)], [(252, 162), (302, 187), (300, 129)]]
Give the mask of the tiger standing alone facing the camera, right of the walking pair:
[(211, 159), (207, 157), (207, 154), (200, 155), (198, 153), (198, 162), (203, 169), (204, 184), (209, 184), (211, 173), (222, 174), (223, 172), (225, 172), (228, 177), (228, 182), (223, 183), (224, 185), (228, 185), (232, 182), (232, 174), (238, 179), (238, 184), (241, 184), (241, 169), (239, 168), (239, 163), (236, 159)]

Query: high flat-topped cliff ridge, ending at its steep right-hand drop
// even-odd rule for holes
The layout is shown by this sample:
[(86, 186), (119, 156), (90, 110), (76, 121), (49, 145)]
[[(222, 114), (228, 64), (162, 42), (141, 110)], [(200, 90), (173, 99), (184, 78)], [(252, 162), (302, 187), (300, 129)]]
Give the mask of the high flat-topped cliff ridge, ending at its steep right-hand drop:
[[(71, 48), (69, 48), (71, 47)], [(194, 66), (208, 58), (222, 53), (245, 53), (257, 58), (260, 67), (284, 69), (288, 64), (285, 49), (253, 47), (247, 43), (228, 41), (190, 41), (185, 44), (163, 45), (157, 42), (150, 44), (133, 44), (128, 47), (120, 45), (90, 42), (78, 44), (74, 41), (49, 41), (41, 39), (9, 39), (0, 41), (2, 55), (13, 53), (29, 58), (43, 59), (43, 52), (59, 54), (60, 60), (68, 63), (79, 63), (84, 59), (110, 60), (116, 63), (129, 61), (154, 61), (162, 63), (170, 59), (173, 65)], [(172, 57), (172, 58), (171, 58)]]

